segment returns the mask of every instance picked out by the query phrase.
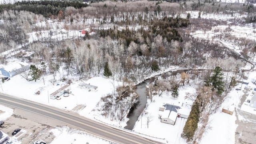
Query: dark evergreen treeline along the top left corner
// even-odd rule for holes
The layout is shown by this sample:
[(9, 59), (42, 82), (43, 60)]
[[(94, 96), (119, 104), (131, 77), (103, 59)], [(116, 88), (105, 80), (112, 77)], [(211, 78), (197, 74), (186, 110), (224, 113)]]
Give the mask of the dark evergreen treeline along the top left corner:
[(60, 10), (64, 11), (65, 8), (70, 6), (79, 9), (88, 6), (88, 4), (79, 1), (22, 1), (14, 4), (2, 4), (0, 5), (0, 12), (2, 13), (4, 10), (24, 10), (49, 17), (51, 15), (56, 16)]

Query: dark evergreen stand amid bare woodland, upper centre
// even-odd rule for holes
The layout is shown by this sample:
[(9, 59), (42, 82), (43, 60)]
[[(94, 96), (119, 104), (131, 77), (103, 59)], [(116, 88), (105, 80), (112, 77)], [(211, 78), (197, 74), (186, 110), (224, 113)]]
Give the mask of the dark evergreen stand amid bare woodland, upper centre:
[(149, 26), (148, 30), (140, 28), (138, 31), (134, 31), (130, 30), (128, 27), (126, 27), (125, 30), (118, 30), (116, 27), (114, 27), (113, 29), (110, 28), (108, 30), (99, 30), (99, 34), (100, 37), (103, 38), (106, 36), (110, 36), (110, 38), (115, 40), (122, 38), (126, 41), (126, 46), (129, 46), (131, 41), (134, 41), (136, 44), (140, 43), (139, 39), (134, 37), (136, 32), (140, 32), (140, 34), (142, 34), (144, 42), (147, 42), (147, 38), (153, 39), (157, 35), (162, 36), (162, 38), (166, 38), (167, 42), (171, 42), (172, 40), (182, 42), (182, 37), (175, 28), (187, 27), (188, 24), (190, 24), (190, 21), (178, 16), (177, 18), (164, 17), (162, 20), (152, 20), (150, 23), (152, 25)]

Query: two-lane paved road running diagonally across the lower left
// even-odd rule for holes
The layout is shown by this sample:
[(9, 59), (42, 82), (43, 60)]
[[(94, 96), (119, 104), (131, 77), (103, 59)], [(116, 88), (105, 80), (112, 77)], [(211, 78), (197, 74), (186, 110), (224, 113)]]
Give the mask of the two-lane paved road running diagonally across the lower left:
[(79, 116), (74, 112), (60, 110), (58, 108), (46, 106), (43, 104), (38, 104), (36, 102), (30, 102), (28, 100), (23, 100), (19, 98), (14, 98), (12, 96), (6, 96), (6, 95), (0, 94), (0, 104), (1, 103), (13, 108), (15, 107), (22, 108), (30, 112), (48, 116), (49, 118), (53, 118), (61, 122), (64, 122), (68, 125), (74, 126), (74, 128), (79, 128), (80, 130), (84, 130), (90, 134), (94, 134), (96, 136), (100, 136), (102, 138), (112, 140), (113, 142), (116, 142), (119, 144), (158, 144), (159, 143), (159, 142), (153, 142), (152, 140), (148, 140), (146, 138), (142, 138), (140, 136), (136, 136), (134, 134), (130, 134), (128, 132), (117, 130), (115, 128), (106, 126), (104, 124), (94, 122), (90, 119)]

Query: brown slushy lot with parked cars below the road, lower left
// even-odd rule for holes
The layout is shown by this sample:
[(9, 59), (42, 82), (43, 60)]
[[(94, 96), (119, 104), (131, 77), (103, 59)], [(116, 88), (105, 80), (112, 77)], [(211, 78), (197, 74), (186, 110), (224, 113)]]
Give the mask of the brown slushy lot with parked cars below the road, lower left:
[[(33, 144), (36, 140), (50, 144), (55, 138), (50, 130), (56, 126), (66, 126), (66, 124), (40, 114), (16, 108), (14, 109), (14, 114), (4, 120), (4, 125), (0, 129), (9, 135), (11, 140), (18, 140), (22, 144)], [(21, 128), (21, 130), (15, 136), (12, 136), (12, 132), (16, 128)]]

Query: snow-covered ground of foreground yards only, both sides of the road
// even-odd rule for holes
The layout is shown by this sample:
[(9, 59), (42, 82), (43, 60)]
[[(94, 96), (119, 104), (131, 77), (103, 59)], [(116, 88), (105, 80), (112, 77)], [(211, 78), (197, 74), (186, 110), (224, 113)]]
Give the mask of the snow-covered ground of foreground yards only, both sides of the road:
[[(254, 78), (255, 72), (252, 74), (249, 74), (249, 78)], [(43, 80), (38, 80), (37, 82), (31, 81), (27, 82), (24, 78), (21, 78), (21, 76), (17, 75), (11, 78), (11, 80), (4, 82), (1, 86), (2, 89), (0, 89), (0, 92), (4, 92), (6, 94), (10, 94), (13, 96), (18, 96), (20, 98), (29, 99), (35, 102), (40, 102), (46, 105), (55, 106), (57, 108), (62, 108), (74, 112), (78, 112), (81, 116), (85, 116), (87, 118), (91, 118), (94, 120), (93, 117), (96, 117), (99, 120), (102, 120), (104, 122), (107, 122), (108, 124), (113, 124), (116, 126), (122, 125), (122, 127), (125, 125), (125, 120), (123, 124), (119, 124), (119, 122), (114, 122), (108, 119), (105, 119), (103, 116), (98, 116), (97, 114), (94, 114), (91, 112), (100, 98), (104, 96), (105, 94), (111, 93), (113, 91), (112, 86), (112, 79), (110, 78), (102, 78), (102, 77), (93, 77), (90, 78), (87, 81), (84, 81), (85, 83), (90, 83), (92, 85), (98, 86), (98, 91), (96, 92), (88, 92), (88, 90), (81, 89), (78, 84), (80, 81), (73, 81), (71, 83), (71, 94), (68, 97), (61, 96), (60, 100), (52, 100), (48, 98), (48, 94), (51, 94), (58, 88), (60, 88), (62, 85), (64, 85), (64, 82), (56, 82), (54, 85), (52, 85), (48, 80), (50, 80), (52, 76), (48, 76), (48, 79), (45, 80), (46, 84), (44, 85)], [(60, 84), (59, 86), (56, 86), (56, 84)], [(244, 84), (242, 86), (242, 89), (244, 88)], [(251, 88), (255, 85), (250, 82), (249, 85)], [(14, 91), (13, 88), (16, 88)], [(2, 91), (3, 90), (3, 91)], [(36, 95), (35, 92), (40, 90), (40, 94)], [(49, 93), (48, 93), (49, 92)], [(179, 92), (179, 98), (178, 99), (172, 99), (171, 96), (168, 96), (168, 94), (163, 94), (162, 97), (154, 97), (154, 102), (150, 103), (148, 102), (148, 106), (146, 108), (146, 112), (148, 115), (151, 115), (153, 117), (152, 122), (149, 123), (149, 127), (147, 128), (146, 123), (146, 116), (145, 114), (142, 115), (142, 121), (141, 116), (136, 123), (134, 127), (134, 132), (136, 134), (146, 134), (150, 136), (157, 137), (154, 140), (159, 140), (160, 142), (168, 142), (171, 144), (186, 144), (184, 139), (180, 137), (180, 134), (182, 133), (184, 124), (186, 122), (186, 119), (184, 118), (177, 118), (176, 124), (170, 125), (160, 122), (160, 119), (158, 119), (159, 114), (159, 106), (162, 103), (178, 103), (178, 102), (184, 102), (184, 96), (186, 92), (195, 92), (194, 88), (191, 86), (184, 86), (180, 87)], [(238, 106), (240, 102), (240, 98), (243, 95), (243, 91), (237, 91), (232, 90), (229, 94), (228, 100), (224, 102), (222, 107), (227, 106)], [(84, 108), (82, 110), (77, 110), (75, 107), (78, 105), (83, 105)], [(246, 105), (243, 105), (246, 106)], [(253, 111), (253, 108), (248, 107), (245, 108), (242, 106), (242, 110)], [(65, 108), (66, 107), (66, 108)], [(10, 108), (6, 108), (4, 106), (1, 106), (0, 109), (2, 111), (5, 111), (5, 113), (1, 114), (1, 119), (6, 119), (9, 116), (12, 115), (13, 110)], [(255, 112), (255, 111), (254, 111)], [(222, 122), (219, 122), (219, 118), (222, 118)], [(210, 117), (211, 120), (211, 126), (212, 130), (208, 132), (202, 139), (202, 144), (211, 144), (211, 142), (216, 142), (215, 136), (218, 136), (219, 142), (227, 142), (230, 144), (234, 144), (234, 133), (236, 130), (236, 124), (235, 124), (235, 114), (229, 115), (222, 113), (221, 110), (218, 110), (216, 114), (213, 114)], [(222, 132), (225, 132), (225, 134), (220, 134), (220, 130)], [(52, 144), (58, 144), (62, 141), (68, 141), (73, 142), (73, 144), (79, 144), (81, 140), (86, 140), (88, 142), (94, 142), (95, 138), (92, 138), (90, 136), (86, 136), (84, 132), (78, 131), (78, 130), (72, 130), (67, 127), (60, 127), (55, 128), (52, 130), (54, 135), (56, 136), (56, 139), (52, 142)], [(214, 135), (214, 137), (212, 137)], [(65, 139), (66, 138), (66, 139)], [(162, 139), (165, 140), (162, 140)], [(75, 140), (76, 139), (76, 140)], [(95, 139), (97, 140), (97, 138)], [(95, 141), (96, 142), (96, 141)], [(102, 142), (102, 141), (99, 141)], [(99, 142), (96, 142), (97, 144), (100, 144)], [(105, 142), (102, 142), (105, 143)]]

